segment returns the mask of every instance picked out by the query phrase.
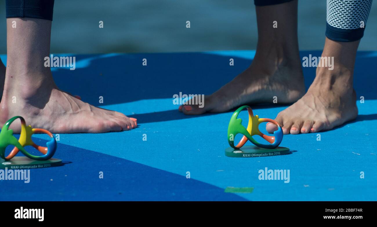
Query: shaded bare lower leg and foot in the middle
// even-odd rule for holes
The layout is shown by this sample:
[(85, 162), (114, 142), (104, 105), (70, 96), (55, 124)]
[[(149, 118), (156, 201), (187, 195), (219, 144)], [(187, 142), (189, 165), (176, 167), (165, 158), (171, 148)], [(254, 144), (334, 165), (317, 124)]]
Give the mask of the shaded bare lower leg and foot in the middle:
[[(215, 93), (204, 107), (184, 105), (185, 114), (223, 112), (242, 104), (297, 101), (305, 92), (297, 41), (297, 0), (256, 6), (258, 43), (250, 67)], [(277, 27), (274, 27), (274, 21)]]

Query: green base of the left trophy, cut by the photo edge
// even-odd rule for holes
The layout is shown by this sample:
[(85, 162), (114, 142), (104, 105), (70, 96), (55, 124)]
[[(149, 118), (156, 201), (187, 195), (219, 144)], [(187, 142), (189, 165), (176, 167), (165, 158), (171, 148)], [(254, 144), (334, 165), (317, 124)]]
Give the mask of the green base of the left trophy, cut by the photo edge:
[(45, 161), (36, 161), (24, 156), (16, 156), (11, 160), (0, 158), (0, 169), (35, 169), (63, 165), (60, 159), (50, 158)]

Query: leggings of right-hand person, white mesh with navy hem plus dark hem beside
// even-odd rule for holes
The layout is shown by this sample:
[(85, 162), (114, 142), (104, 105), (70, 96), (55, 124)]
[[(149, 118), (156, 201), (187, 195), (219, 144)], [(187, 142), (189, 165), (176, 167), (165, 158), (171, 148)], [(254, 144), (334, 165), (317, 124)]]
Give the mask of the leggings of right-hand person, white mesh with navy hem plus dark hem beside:
[[(256, 6), (293, 0), (254, 0)], [(340, 42), (360, 40), (364, 35), (372, 0), (327, 0), (326, 37)]]

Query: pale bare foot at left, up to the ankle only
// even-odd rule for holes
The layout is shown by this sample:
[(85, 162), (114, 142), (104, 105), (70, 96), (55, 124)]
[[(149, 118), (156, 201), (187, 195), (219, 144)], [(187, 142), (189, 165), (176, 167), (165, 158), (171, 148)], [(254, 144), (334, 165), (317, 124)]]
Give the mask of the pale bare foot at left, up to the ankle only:
[[(17, 76), (12, 76), (11, 72), (7, 71), (6, 74), (5, 91), (0, 103), (2, 125), (9, 118), (19, 115), (33, 128), (47, 129), (52, 133), (105, 133), (137, 126), (135, 118), (89, 105), (59, 90), (53, 81), (44, 80), (39, 84), (34, 81), (30, 86), (27, 82), (17, 81)], [(20, 122), (12, 123), (11, 128), (19, 133)]]

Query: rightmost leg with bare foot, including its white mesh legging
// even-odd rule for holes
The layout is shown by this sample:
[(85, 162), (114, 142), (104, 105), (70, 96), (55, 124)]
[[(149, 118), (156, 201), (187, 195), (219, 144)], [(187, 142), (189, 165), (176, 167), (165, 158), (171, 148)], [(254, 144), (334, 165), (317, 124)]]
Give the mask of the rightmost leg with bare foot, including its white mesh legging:
[[(334, 70), (318, 67), (308, 93), (277, 115), (285, 134), (329, 130), (357, 117), (353, 70), (372, 0), (328, 0), (322, 56), (334, 57)], [(360, 26), (363, 25), (363, 26)], [(276, 126), (267, 125), (272, 132)]]

